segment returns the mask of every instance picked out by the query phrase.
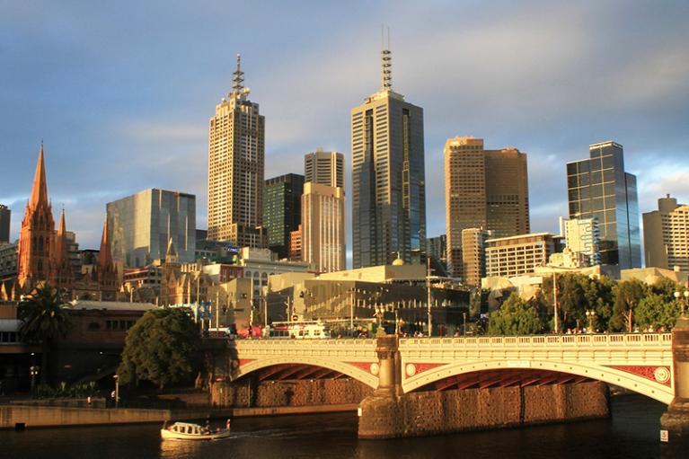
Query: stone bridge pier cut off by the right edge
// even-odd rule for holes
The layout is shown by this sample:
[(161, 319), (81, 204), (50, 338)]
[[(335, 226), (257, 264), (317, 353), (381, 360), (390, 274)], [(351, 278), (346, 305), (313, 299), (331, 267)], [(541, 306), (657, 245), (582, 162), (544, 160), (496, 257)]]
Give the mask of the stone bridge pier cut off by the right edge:
[(675, 398), (660, 418), (661, 440), (689, 447), (689, 318), (682, 313), (672, 329)]

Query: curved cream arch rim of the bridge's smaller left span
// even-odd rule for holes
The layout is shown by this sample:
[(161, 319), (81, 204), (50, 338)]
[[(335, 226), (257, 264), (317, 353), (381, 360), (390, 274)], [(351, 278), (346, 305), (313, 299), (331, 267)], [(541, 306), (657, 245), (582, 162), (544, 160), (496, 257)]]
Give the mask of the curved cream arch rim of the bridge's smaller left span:
[[(373, 363), (373, 362), (372, 362)], [(378, 377), (364, 370), (361, 366), (356, 366), (343, 362), (341, 360), (334, 360), (327, 357), (296, 357), (296, 356), (276, 356), (276, 357), (261, 357), (256, 360), (241, 362), (236, 369), (233, 379), (239, 379), (245, 375), (250, 375), (262, 368), (269, 366), (281, 365), (303, 365), (303, 366), (320, 366), (332, 371), (348, 375), (359, 383), (366, 384), (369, 387), (376, 388), (378, 386)]]

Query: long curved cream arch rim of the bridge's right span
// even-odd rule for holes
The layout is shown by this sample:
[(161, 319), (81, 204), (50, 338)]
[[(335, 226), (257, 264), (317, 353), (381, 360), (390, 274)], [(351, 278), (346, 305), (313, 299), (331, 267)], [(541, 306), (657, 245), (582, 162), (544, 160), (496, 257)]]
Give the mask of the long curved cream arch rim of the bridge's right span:
[[(404, 368), (402, 364), (402, 368)], [(611, 366), (587, 366), (579, 363), (569, 363), (558, 360), (538, 360), (529, 359), (523, 361), (509, 361), (503, 359), (481, 360), (480, 362), (457, 362), (447, 365), (436, 366), (428, 371), (408, 377), (402, 383), (402, 389), (409, 393), (420, 389), (428, 384), (437, 383), (446, 378), (475, 373), (481, 371), (495, 370), (546, 370), (569, 375), (577, 375), (608, 384), (614, 384), (635, 393), (646, 395), (658, 402), (669, 404), (674, 397), (674, 389), (670, 385), (661, 384), (649, 380), (640, 375), (611, 367)], [(672, 374), (672, 370), (670, 370)]]

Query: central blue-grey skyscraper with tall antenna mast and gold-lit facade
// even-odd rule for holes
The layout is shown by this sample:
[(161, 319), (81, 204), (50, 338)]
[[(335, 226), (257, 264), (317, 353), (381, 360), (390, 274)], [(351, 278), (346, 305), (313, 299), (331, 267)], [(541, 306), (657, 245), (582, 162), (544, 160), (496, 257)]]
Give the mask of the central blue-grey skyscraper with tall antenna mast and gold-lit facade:
[(390, 50), (382, 84), (351, 110), (354, 268), (419, 262), (426, 247), (423, 109), (393, 91)]

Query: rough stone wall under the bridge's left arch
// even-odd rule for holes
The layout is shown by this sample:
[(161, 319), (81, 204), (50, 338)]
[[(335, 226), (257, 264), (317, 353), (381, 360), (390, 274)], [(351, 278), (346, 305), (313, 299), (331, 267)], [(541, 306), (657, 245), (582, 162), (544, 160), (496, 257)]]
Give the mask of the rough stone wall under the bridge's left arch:
[(314, 379), (213, 384), (211, 399), (218, 407), (340, 405), (361, 402), (373, 389), (354, 379)]

